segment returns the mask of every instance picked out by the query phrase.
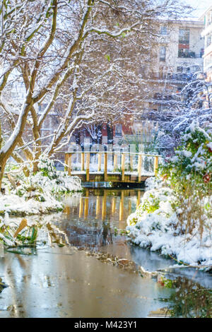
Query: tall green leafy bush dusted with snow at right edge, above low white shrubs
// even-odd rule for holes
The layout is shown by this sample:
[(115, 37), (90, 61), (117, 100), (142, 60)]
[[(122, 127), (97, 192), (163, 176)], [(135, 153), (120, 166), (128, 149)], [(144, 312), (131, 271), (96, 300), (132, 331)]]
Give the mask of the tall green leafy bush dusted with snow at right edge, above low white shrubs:
[(182, 232), (189, 234), (198, 227), (202, 235), (211, 218), (212, 135), (193, 121), (184, 136), (182, 146), (160, 167), (160, 174), (175, 194), (175, 210)]

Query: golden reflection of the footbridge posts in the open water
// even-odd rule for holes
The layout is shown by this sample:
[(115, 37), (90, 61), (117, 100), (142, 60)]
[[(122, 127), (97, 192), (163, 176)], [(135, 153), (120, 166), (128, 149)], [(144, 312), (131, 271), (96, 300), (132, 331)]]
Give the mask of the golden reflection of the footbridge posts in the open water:
[(116, 230), (125, 230), (126, 218), (139, 206), (140, 189), (86, 189), (81, 197), (66, 200), (59, 227), (69, 242), (81, 248), (104, 247), (119, 242)]

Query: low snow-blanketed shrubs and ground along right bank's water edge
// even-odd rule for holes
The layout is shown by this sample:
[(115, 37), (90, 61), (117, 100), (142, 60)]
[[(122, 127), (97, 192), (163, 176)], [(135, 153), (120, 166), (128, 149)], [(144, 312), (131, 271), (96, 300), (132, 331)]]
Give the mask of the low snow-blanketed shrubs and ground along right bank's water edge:
[[(192, 235), (182, 235), (178, 227), (178, 211), (172, 208), (172, 189), (156, 181), (152, 178), (147, 180), (148, 190), (143, 195), (141, 205), (127, 219), (129, 239), (140, 247), (172, 256), (178, 262), (182, 261), (191, 266), (208, 266), (208, 269), (211, 269), (212, 219), (206, 218), (202, 237), (197, 226)], [(212, 199), (206, 200), (211, 206)]]

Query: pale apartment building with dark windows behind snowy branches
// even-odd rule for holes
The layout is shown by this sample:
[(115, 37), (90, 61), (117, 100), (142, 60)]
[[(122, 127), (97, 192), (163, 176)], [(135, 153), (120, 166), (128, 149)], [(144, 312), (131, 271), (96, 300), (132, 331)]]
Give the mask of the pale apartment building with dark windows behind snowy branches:
[(153, 94), (144, 108), (163, 111), (180, 104), (180, 91), (204, 64), (203, 20), (162, 21), (158, 26), (158, 47), (148, 81)]

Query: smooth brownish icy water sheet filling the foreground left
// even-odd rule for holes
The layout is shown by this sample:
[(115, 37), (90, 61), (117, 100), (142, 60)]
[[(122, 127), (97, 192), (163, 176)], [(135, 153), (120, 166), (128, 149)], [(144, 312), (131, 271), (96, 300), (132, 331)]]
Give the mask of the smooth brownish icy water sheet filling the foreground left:
[(146, 317), (164, 304), (167, 292), (151, 278), (141, 278), (84, 251), (39, 250), (30, 258), (6, 254), (0, 275), (1, 317)]

